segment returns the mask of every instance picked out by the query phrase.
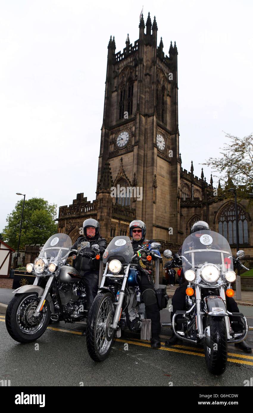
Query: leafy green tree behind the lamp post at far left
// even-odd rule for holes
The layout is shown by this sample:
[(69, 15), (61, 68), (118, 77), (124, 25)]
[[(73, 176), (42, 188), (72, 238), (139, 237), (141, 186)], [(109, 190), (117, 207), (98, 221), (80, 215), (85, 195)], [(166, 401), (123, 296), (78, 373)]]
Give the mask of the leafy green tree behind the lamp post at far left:
[[(10, 247), (17, 249), (23, 200), (15, 205), (15, 209), (7, 216), (7, 225), (2, 236)], [(31, 198), (25, 201), (24, 215), (20, 238), (20, 249), (26, 244), (44, 244), (57, 232), (56, 204), (49, 204), (43, 198)]]

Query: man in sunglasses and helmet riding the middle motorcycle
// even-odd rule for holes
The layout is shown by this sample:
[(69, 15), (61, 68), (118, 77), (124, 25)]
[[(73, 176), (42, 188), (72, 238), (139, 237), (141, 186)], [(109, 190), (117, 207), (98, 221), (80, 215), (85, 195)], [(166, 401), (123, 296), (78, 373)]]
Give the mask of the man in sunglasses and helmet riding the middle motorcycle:
[[(152, 261), (149, 262), (146, 257), (148, 255), (148, 248), (153, 240), (146, 240), (146, 225), (143, 221), (134, 220), (129, 225), (129, 234), (133, 238), (132, 245), (134, 252), (140, 249), (147, 249), (147, 254), (143, 253), (133, 259), (133, 263), (138, 263), (138, 268), (141, 272), (139, 280), (139, 287), (142, 298), (145, 304), (147, 318), (151, 319), (151, 341), (150, 345), (153, 348), (160, 348), (161, 342), (159, 338), (161, 324), (160, 311), (158, 308), (157, 298), (154, 290), (154, 283), (152, 280)], [(156, 252), (158, 253), (158, 252)], [(160, 253), (159, 253), (160, 255)]]

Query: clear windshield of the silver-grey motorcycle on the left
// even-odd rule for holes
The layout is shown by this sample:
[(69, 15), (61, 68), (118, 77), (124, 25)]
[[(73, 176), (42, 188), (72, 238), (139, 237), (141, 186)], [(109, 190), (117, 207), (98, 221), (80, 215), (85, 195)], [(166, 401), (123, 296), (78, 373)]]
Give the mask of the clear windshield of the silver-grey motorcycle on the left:
[[(72, 247), (72, 240), (67, 234), (55, 234), (43, 245), (39, 258), (47, 258), (49, 262), (64, 265)], [(61, 262), (60, 262), (61, 261)]]

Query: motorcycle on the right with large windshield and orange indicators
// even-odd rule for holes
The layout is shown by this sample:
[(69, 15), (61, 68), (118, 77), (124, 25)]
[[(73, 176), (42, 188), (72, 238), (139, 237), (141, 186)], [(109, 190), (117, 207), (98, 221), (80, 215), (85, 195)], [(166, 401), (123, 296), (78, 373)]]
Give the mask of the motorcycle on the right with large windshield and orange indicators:
[(233, 257), (222, 235), (214, 231), (206, 234), (197, 231), (194, 235), (200, 240), (200, 247), (194, 246), (190, 235), (183, 243), (181, 256), (172, 256), (170, 250), (163, 253), (166, 258), (172, 258), (168, 261), (170, 268), (183, 268), (188, 281), (186, 311), (176, 311), (171, 325), (179, 339), (203, 344), (208, 370), (220, 375), (227, 364), (227, 344), (239, 343), (248, 335), (246, 317), (242, 313), (230, 313), (226, 303), (226, 296), (234, 295), (231, 288), (236, 280), (234, 266), (248, 268), (239, 261), (244, 252), (238, 251), (237, 257)]

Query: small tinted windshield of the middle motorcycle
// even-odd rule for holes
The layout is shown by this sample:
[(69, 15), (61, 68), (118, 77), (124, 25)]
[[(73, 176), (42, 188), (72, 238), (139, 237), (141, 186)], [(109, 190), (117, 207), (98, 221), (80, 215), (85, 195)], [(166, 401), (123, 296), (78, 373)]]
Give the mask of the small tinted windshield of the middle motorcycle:
[(103, 254), (103, 263), (110, 258), (118, 259), (122, 263), (130, 263), (134, 256), (134, 249), (129, 237), (120, 235), (114, 237)]

